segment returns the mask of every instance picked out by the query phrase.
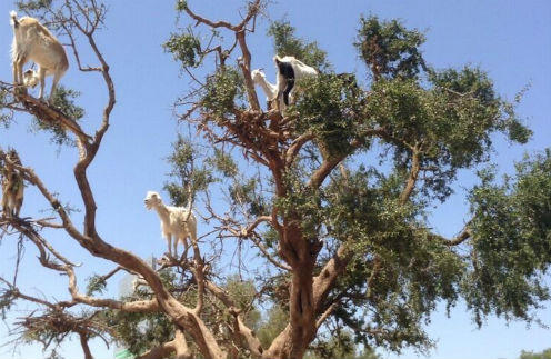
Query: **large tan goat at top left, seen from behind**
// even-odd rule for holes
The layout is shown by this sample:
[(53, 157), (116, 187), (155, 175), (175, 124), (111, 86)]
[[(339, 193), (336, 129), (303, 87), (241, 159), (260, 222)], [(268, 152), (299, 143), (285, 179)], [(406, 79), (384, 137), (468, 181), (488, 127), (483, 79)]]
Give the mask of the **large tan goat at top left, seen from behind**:
[(13, 86), (24, 84), (23, 66), (32, 60), (39, 66), (39, 99), (42, 99), (44, 94), (44, 77), (53, 76), (51, 100), (59, 80), (69, 68), (66, 50), (37, 19), (23, 17), (18, 20), (16, 11), (11, 11), (10, 17), (13, 27), (11, 46)]

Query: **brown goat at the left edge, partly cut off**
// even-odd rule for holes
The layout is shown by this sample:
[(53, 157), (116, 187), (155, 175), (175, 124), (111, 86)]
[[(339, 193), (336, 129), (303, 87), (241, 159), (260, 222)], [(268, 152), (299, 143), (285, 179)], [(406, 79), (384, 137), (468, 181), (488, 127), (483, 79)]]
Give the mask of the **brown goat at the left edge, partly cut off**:
[(2, 211), (6, 217), (19, 217), (23, 205), (23, 178), (13, 166), (21, 166), (21, 160), (16, 150), (11, 149), (6, 156), (2, 174)]

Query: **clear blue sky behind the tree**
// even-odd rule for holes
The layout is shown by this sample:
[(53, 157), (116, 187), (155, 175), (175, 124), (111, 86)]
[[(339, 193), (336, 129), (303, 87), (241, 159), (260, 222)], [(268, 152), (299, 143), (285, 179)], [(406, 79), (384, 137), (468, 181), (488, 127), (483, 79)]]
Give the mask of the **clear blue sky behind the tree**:
[[(160, 238), (159, 222), (153, 213), (146, 211), (142, 200), (147, 190), (161, 190), (170, 170), (164, 158), (170, 153), (177, 131), (187, 130), (187, 127), (177, 124), (172, 103), (188, 84), (179, 77), (179, 66), (161, 48), (170, 32), (176, 31), (174, 1), (108, 3), (110, 11), (106, 28), (98, 33), (97, 41), (111, 66), (117, 106), (101, 151), (90, 169), (98, 201), (98, 229), (114, 246), (131, 249), (143, 257), (160, 255), (164, 243)], [(241, 8), (242, 1), (190, 0), (189, 3), (210, 18), (236, 19), (236, 10)], [(4, 20), (0, 21), (0, 49), (4, 49), (0, 79), (7, 82), (11, 81), (9, 48), (12, 37), (8, 13), (13, 8), (12, 1), (0, 2), (0, 14), (4, 14)], [(427, 30), (423, 52), (432, 66), (480, 66), (489, 71), (495, 88), (505, 98), (512, 99), (531, 83), (518, 110), (534, 136), (522, 147), (495, 138), (493, 158), (502, 172), (511, 172), (513, 162), (520, 161), (524, 152), (541, 151), (551, 146), (551, 1), (548, 0), (281, 0), (270, 6), (269, 19), (261, 19), (257, 32), (249, 36), (252, 64), (266, 68), (268, 77), (274, 78), (272, 43), (266, 36), (266, 27), (270, 19), (278, 20), (287, 14), (298, 28), (299, 36), (318, 41), (329, 53), (338, 72), (364, 71), (352, 47), (361, 13), (373, 13), (382, 19), (400, 18), (410, 28)], [(82, 56), (83, 62), (88, 63), (87, 53)], [(61, 82), (82, 92), (79, 101), (87, 110), (83, 127), (93, 131), (106, 100), (103, 84), (98, 78), (79, 73), (72, 53), (69, 57), (71, 69)], [(19, 143), (24, 163), (32, 166), (53, 191), (62, 193), (63, 202), (81, 206), (72, 177), (72, 166), (78, 156), (76, 150), (58, 152), (49, 144), (47, 136), (31, 131), (26, 117), (18, 117), (9, 130), (0, 129), (0, 146), (6, 148), (12, 143)], [(442, 235), (452, 236), (462, 228), (468, 210), (463, 200), (464, 188), (472, 186), (473, 181), (470, 172), (461, 172), (457, 196), (434, 209), (431, 223)], [(38, 193), (28, 190), (22, 215), (44, 217), (40, 211), (44, 208), (47, 205)], [(199, 232), (207, 230), (207, 225), (200, 223)], [(84, 262), (78, 272), (81, 288), (91, 271), (107, 272), (113, 268), (112, 263), (90, 258), (67, 237), (51, 236), (53, 245), (73, 261)], [(11, 277), (14, 247), (3, 242), (0, 249), (0, 275)], [(67, 295), (66, 278), (37, 266), (36, 253), (30, 247), (18, 282), (34, 295), (41, 291), (46, 296), (54, 293), (58, 299)], [(551, 325), (551, 303), (547, 307), (537, 315)], [(26, 308), (23, 305), (17, 310)], [(11, 313), (8, 321), (20, 313)], [(504, 320), (489, 318), (483, 328), (477, 330), (461, 303), (451, 311), (451, 318), (445, 317), (443, 309), (435, 312), (428, 331), (438, 340), (437, 349), (429, 358), (517, 358), (522, 349), (541, 351), (551, 347), (551, 331), (535, 325), (529, 329), (523, 322), (508, 325)], [(7, 341), (6, 336), (6, 326), (0, 325), (0, 343)], [(68, 342), (61, 353), (82, 357), (78, 340)], [(381, 353), (397, 358), (393, 353)], [(108, 350), (97, 342), (94, 355), (97, 358), (112, 357), (112, 348)], [(1, 358), (41, 356), (37, 346), (20, 347), (14, 353), (8, 347), (0, 348)], [(405, 351), (400, 358), (415, 357), (414, 352)]]

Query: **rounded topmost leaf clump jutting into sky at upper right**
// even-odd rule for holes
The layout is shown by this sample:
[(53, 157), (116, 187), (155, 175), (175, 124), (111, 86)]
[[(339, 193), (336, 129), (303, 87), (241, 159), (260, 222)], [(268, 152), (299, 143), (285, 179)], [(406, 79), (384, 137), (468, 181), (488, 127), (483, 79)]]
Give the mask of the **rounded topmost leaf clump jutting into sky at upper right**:
[(371, 16), (360, 18), (354, 46), (375, 80), (411, 79), (425, 68), (419, 49), (423, 42), (422, 32), (408, 30), (399, 20), (380, 21)]

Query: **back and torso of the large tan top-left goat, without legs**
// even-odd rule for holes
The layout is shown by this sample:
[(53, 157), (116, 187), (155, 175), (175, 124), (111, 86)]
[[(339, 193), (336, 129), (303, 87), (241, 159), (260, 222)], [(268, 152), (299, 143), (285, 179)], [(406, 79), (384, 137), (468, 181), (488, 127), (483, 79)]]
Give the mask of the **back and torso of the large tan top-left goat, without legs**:
[(67, 53), (61, 43), (37, 19), (24, 17), (13, 26), (13, 60), (32, 60), (47, 73), (63, 73), (69, 68)]

